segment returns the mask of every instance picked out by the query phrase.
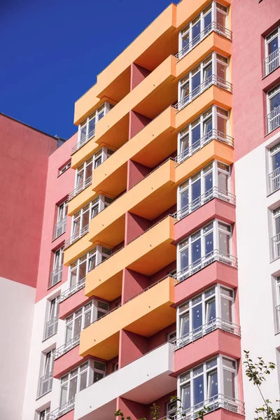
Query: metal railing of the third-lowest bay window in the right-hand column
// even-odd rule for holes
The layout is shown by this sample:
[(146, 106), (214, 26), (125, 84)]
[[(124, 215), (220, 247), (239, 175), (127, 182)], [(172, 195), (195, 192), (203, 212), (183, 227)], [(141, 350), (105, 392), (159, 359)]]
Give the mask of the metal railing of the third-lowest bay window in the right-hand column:
[(176, 282), (186, 280), (188, 277), (215, 261), (223, 262), (224, 264), (237, 268), (237, 257), (220, 251), (219, 249), (214, 249), (214, 251), (207, 253), (207, 255), (204, 255), (202, 258), (189, 264), (188, 267), (176, 272), (174, 278), (176, 279)]

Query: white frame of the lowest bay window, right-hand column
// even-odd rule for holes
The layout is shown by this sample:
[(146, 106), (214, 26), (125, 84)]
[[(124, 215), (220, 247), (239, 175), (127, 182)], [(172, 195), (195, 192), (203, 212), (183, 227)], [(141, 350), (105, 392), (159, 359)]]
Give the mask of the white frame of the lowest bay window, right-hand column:
[[(214, 360), (216, 359), (216, 365), (214, 365), (213, 367), (209, 367), (207, 369), (207, 365), (211, 362), (214, 362)], [(231, 369), (230, 367), (225, 367), (225, 365), (223, 365), (223, 360), (230, 360), (231, 362), (235, 363), (235, 369)], [(202, 404), (200, 405), (200, 407), (197, 407), (196, 409), (194, 409), (194, 371), (197, 370), (199, 367), (202, 367), (202, 373), (198, 374), (197, 377), (199, 376), (203, 376), (203, 384), (204, 384), (204, 399)], [(183, 387), (186, 386), (187, 384), (190, 384), (190, 409), (183, 410), (182, 412), (186, 412), (186, 414), (190, 414), (190, 413), (194, 413), (194, 412), (198, 412), (202, 409), (202, 407), (204, 407), (204, 405), (206, 405), (207, 407), (211, 408), (211, 405), (215, 405), (216, 402), (219, 401), (220, 399), (220, 395), (224, 395), (224, 384), (223, 384), (223, 369), (225, 368), (225, 370), (229, 370), (230, 372), (234, 372), (235, 373), (235, 399), (232, 400), (230, 397), (230, 405), (235, 406), (235, 404), (238, 403), (238, 388), (237, 388), (237, 360), (227, 357), (227, 356), (223, 356), (221, 354), (218, 354), (218, 356), (211, 358), (209, 360), (207, 360), (206, 362), (197, 365), (195, 367), (193, 367), (192, 369), (184, 372), (183, 374), (181, 374), (179, 377), (177, 377), (177, 395), (180, 396), (181, 398), (181, 402), (180, 405), (183, 405)], [(211, 402), (207, 401), (209, 400), (209, 386), (207, 384), (207, 374), (210, 372), (214, 372), (215, 370), (217, 370), (217, 379), (218, 379), (218, 394), (217, 394), (217, 398), (214, 399), (214, 396), (211, 397), (213, 398), (213, 400)], [(188, 379), (184, 379), (184, 377), (188, 377)], [(181, 380), (182, 379), (182, 380)], [(225, 395), (225, 398), (226, 395)], [(235, 403), (235, 400), (237, 401)], [(223, 402), (221, 401), (221, 407), (226, 408), (226, 405), (223, 406)], [(179, 405), (177, 406), (177, 408), (180, 410)]]

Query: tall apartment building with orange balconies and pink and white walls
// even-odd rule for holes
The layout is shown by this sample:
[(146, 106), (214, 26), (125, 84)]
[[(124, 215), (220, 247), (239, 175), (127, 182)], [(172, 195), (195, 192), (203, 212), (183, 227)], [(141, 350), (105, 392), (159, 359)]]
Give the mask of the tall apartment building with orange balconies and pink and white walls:
[(172, 3), (78, 99), (5, 420), (252, 419), (244, 349), (279, 398), (279, 37), (277, 0)]

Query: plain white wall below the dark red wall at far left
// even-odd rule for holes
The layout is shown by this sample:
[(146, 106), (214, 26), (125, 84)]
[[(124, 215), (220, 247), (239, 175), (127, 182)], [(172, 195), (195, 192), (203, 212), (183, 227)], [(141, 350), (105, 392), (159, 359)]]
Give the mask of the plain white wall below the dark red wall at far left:
[(0, 277), (0, 417), (19, 420), (25, 394), (35, 288)]

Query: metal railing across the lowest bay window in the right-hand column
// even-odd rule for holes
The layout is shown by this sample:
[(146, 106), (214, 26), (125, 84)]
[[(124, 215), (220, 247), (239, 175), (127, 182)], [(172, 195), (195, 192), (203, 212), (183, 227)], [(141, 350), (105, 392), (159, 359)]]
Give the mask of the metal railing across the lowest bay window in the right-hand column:
[(173, 419), (174, 420), (198, 419), (200, 416), (199, 412), (202, 409), (204, 409), (204, 407), (206, 408), (206, 410), (204, 410), (204, 414), (207, 414), (207, 412), (212, 412), (219, 408), (227, 409), (230, 412), (235, 412), (237, 414), (241, 414), (242, 416), (244, 416), (245, 414), (243, 401), (218, 393), (214, 395), (213, 397), (209, 398), (208, 400), (204, 400), (194, 405), (193, 407), (181, 410), (179, 413), (177, 413), (173, 417)]

